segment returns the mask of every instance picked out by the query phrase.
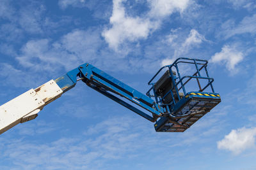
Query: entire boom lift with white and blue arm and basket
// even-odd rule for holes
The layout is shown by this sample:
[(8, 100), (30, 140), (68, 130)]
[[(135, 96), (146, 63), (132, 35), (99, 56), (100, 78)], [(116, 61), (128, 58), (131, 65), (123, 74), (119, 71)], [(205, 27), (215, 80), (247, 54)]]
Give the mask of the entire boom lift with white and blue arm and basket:
[[(161, 67), (148, 82), (151, 87), (146, 95), (91, 64), (83, 64), (0, 106), (0, 134), (36, 118), (44, 106), (75, 87), (79, 80), (141, 117), (155, 122), (157, 132), (184, 132), (221, 102), (220, 95), (214, 92), (214, 79), (209, 77), (207, 63), (207, 60), (179, 58), (173, 64)], [(186, 64), (185, 67), (181, 66), (183, 69), (193, 66), (195, 73), (181, 76), (180, 64)], [(166, 71), (161, 76), (164, 69)], [(196, 81), (196, 85), (189, 85), (192, 80)], [(198, 90), (188, 92), (189, 88)]]

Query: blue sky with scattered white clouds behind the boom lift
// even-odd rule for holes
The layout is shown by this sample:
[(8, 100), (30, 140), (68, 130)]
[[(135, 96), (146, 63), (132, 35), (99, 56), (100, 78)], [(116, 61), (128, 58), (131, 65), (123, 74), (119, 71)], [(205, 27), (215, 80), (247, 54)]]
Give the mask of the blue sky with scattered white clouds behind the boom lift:
[(83, 83), (0, 136), (0, 169), (256, 169), (256, 3), (0, 1), (0, 103), (90, 62), (145, 93), (178, 57), (209, 60), (222, 102), (184, 133)]

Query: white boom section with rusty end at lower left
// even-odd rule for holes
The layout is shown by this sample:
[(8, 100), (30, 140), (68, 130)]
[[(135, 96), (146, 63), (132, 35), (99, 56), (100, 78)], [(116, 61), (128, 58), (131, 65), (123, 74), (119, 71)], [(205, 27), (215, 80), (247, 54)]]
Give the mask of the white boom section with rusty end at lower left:
[(61, 94), (63, 91), (51, 80), (3, 104), (0, 106), (0, 134), (19, 123), (33, 120), (45, 105), (56, 100)]

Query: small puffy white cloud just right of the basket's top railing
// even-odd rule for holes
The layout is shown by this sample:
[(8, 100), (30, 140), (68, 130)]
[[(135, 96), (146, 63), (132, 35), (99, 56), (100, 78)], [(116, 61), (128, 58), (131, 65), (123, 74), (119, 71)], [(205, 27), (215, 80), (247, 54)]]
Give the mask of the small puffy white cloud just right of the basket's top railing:
[(239, 52), (236, 49), (236, 46), (225, 45), (221, 48), (221, 52), (215, 53), (210, 62), (226, 64), (228, 71), (232, 71), (234, 73), (235, 68), (239, 62), (244, 59), (243, 52)]

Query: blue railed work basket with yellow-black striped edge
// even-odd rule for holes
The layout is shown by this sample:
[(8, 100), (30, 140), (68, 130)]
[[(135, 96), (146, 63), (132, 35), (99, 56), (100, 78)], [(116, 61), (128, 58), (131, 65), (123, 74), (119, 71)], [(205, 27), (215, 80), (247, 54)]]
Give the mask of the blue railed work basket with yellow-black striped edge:
[[(185, 75), (180, 73), (180, 65), (188, 69), (183, 73)], [(164, 68), (167, 70), (163, 76), (152, 83)], [(193, 69), (195, 72), (189, 74)], [(165, 112), (154, 125), (156, 131), (184, 132), (211, 111), (221, 102), (220, 94), (214, 92), (213, 81), (207, 71), (207, 60), (179, 58), (172, 65), (159, 69), (148, 82), (152, 87), (147, 92), (147, 96), (154, 98)], [(188, 84), (189, 90), (197, 90), (187, 92)]]

